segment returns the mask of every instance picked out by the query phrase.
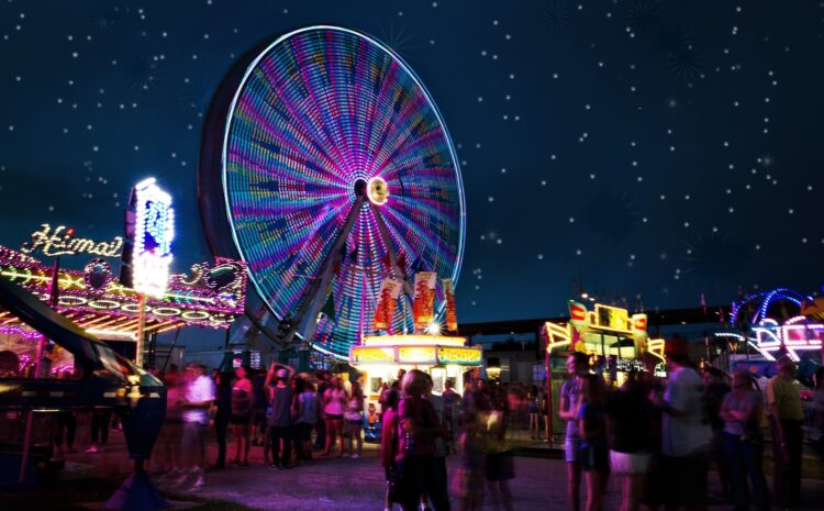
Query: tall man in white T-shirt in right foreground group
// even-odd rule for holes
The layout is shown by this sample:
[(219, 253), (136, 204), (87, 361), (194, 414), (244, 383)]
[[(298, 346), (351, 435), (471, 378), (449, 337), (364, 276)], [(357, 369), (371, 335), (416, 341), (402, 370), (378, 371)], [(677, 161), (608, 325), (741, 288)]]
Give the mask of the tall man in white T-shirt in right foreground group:
[(664, 412), (661, 465), (667, 509), (705, 510), (712, 429), (703, 404), (704, 382), (689, 359), (687, 341), (667, 340), (667, 389), (653, 400)]

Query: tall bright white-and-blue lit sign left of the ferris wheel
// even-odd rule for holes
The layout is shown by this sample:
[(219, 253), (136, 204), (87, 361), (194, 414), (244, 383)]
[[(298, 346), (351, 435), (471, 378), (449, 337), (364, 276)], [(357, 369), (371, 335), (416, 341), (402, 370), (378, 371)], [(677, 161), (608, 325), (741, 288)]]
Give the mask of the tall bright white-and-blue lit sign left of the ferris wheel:
[(130, 244), (124, 264), (131, 265), (132, 287), (143, 295), (163, 297), (169, 281), (171, 242), (175, 238), (171, 197), (155, 184), (154, 178), (145, 179), (132, 190), (126, 219)]

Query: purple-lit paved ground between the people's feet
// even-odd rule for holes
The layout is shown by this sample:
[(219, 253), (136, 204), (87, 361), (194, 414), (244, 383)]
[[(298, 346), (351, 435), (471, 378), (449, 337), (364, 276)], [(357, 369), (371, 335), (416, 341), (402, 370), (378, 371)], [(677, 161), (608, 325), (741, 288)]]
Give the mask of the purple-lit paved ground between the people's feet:
[[(86, 446), (82, 438), (78, 438), (78, 446)], [(214, 451), (210, 449), (211, 459), (214, 459)], [(360, 459), (315, 458), (289, 470), (277, 471), (263, 466), (261, 448), (253, 447), (248, 467), (230, 466), (223, 470), (210, 470), (207, 485), (202, 488), (192, 489), (186, 484), (177, 486), (162, 478), (157, 480), (167, 496), (178, 500), (219, 500), (259, 510), (382, 510), (385, 481), (377, 454), (377, 447), (367, 444), (365, 456)], [(122, 479), (131, 470), (125, 459), (122, 435), (116, 431), (112, 432), (105, 453), (77, 453), (68, 458), (73, 462), (73, 469), (66, 476), (78, 480), (94, 477)], [(450, 457), (449, 467), (454, 463), (455, 458)], [(512, 481), (515, 510), (566, 510), (564, 462), (516, 457), (515, 471), (516, 478)], [(711, 475), (711, 491), (717, 490), (715, 479)], [(611, 482), (605, 510), (617, 509), (616, 491)], [(824, 481), (804, 480), (804, 502), (808, 503), (806, 509), (824, 509)], [(218, 506), (216, 509), (222, 508)], [(483, 509), (495, 508), (488, 499)], [(712, 507), (713, 511), (727, 509), (731, 507)]]

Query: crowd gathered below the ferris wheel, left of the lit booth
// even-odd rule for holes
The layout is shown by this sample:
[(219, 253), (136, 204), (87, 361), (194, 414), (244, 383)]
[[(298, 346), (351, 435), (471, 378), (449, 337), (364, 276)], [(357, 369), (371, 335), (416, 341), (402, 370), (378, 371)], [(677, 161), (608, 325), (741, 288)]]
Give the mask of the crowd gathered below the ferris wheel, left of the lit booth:
[[(275, 363), (268, 370), (238, 367), (211, 376), (201, 364), (188, 365), (183, 374), (172, 365), (158, 376), (167, 388), (167, 411), (153, 462), (179, 485), (202, 486), (208, 468), (248, 466), (253, 446), (263, 447), (265, 464), (279, 470), (312, 459), (313, 449), (320, 456), (361, 455), (364, 393), (357, 381), (344, 388), (329, 371), (296, 375)], [(213, 463), (205, 454), (210, 424), (218, 443)]]

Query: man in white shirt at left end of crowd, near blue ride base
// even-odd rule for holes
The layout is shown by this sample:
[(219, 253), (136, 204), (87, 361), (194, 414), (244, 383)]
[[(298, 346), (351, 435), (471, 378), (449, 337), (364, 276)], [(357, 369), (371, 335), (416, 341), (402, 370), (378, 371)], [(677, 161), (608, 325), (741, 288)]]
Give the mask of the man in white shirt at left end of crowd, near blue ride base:
[[(186, 368), (186, 399), (183, 410), (182, 449), (189, 460), (191, 475), (196, 476), (194, 487), (205, 482), (205, 432), (209, 425), (209, 407), (214, 401), (214, 381), (205, 375), (202, 364), (189, 364)], [(183, 476), (181, 484), (189, 477)]]

